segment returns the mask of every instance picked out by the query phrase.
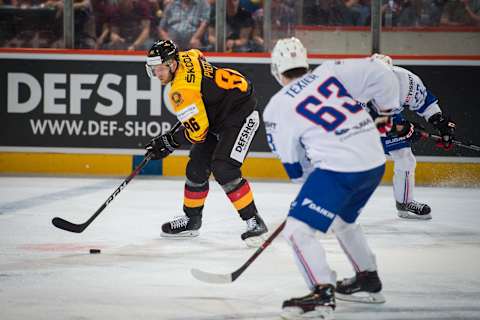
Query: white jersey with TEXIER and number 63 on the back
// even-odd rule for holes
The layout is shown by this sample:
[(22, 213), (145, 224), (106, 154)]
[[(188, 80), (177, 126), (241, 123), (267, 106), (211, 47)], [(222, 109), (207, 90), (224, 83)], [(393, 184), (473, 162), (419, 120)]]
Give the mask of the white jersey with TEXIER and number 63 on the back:
[(385, 163), (380, 135), (355, 99), (397, 109), (398, 91), (395, 75), (381, 62), (325, 62), (270, 99), (263, 114), (270, 148), (292, 179), (302, 178), (306, 159), (337, 172), (378, 167)]

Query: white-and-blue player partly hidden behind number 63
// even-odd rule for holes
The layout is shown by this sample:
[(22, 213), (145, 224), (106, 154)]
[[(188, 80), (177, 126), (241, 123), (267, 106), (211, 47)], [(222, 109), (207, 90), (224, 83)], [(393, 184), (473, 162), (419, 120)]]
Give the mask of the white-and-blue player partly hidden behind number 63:
[[(388, 56), (374, 54), (372, 57), (392, 67), (400, 86), (402, 111), (409, 109), (431, 123), (442, 136), (441, 146), (446, 149), (451, 147), (455, 123), (443, 116), (438, 99), (427, 90), (422, 80), (407, 69), (393, 66), (392, 59)], [(369, 108), (371, 105), (368, 105)], [(375, 111), (370, 111), (375, 118)], [(401, 114), (393, 117), (393, 125), (398, 126), (395, 135), (387, 134), (382, 137), (382, 143), (385, 153), (389, 154), (394, 162), (393, 194), (398, 216), (406, 219), (431, 219), (430, 207), (414, 200), (416, 160), (411, 143), (418, 138), (418, 135), (414, 134), (414, 126)]]

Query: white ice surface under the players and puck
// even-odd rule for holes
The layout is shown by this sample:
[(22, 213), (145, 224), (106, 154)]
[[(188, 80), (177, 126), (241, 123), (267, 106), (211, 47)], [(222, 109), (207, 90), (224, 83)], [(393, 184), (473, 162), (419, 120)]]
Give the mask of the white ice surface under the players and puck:
[[(245, 223), (212, 182), (198, 238), (164, 239), (181, 215), (183, 180), (135, 178), (83, 233), (84, 222), (122, 179), (0, 177), (0, 319), (279, 319), (282, 301), (307, 293), (286, 242), (274, 243), (234, 283), (206, 284), (191, 268), (229, 273), (254, 252)], [(273, 230), (299, 185), (252, 182)], [(480, 189), (417, 188), (431, 221), (397, 218), (382, 186), (360, 223), (377, 255), (387, 303), (337, 302), (337, 319), (480, 319)], [(335, 238), (323, 239), (339, 278), (353, 270)], [(99, 248), (101, 254), (89, 254)]]

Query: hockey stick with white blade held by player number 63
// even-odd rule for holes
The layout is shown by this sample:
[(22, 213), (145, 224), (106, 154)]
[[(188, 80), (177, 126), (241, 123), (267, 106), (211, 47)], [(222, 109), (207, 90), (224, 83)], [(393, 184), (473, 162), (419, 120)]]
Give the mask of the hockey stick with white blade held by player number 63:
[(285, 227), (286, 220), (280, 224), (275, 231), (268, 237), (267, 240), (255, 251), (255, 253), (248, 258), (248, 260), (237, 270), (232, 273), (218, 274), (205, 272), (199, 269), (191, 269), (192, 276), (200, 281), (208, 283), (232, 283), (235, 281), (251, 264), (255, 259), (272, 243), (272, 241), (279, 235), (279, 233)]

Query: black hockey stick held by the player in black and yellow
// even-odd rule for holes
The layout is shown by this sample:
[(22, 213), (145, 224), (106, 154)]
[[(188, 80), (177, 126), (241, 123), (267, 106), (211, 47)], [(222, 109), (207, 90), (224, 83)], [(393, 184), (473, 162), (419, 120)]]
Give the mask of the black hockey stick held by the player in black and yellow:
[[(180, 128), (181, 125), (182, 125), (181, 122), (177, 122), (170, 131), (171, 132), (176, 132), (178, 130), (178, 128)], [(127, 184), (136, 175), (138, 175), (140, 173), (140, 171), (147, 165), (147, 163), (151, 159), (152, 159), (152, 154), (147, 153), (145, 155), (145, 157), (143, 158), (142, 162), (132, 171), (132, 173), (130, 173), (130, 175), (127, 178), (125, 178), (125, 180), (123, 180), (123, 182), (120, 184), (120, 186), (118, 186), (118, 188), (115, 189), (115, 191), (110, 195), (110, 197), (108, 197), (107, 201), (105, 201), (100, 206), (100, 208), (98, 208), (98, 210), (95, 211), (95, 213), (84, 223), (76, 224), (76, 223), (72, 223), (70, 221), (67, 221), (65, 219), (55, 217), (55, 218), (52, 219), (52, 224), (55, 227), (57, 227), (59, 229), (62, 229), (62, 230), (65, 230), (65, 231), (70, 231), (70, 232), (75, 232), (75, 233), (83, 232), (83, 230), (85, 230), (90, 225), (90, 223), (92, 223), (93, 220), (95, 220), (95, 218), (97, 218), (97, 216), (110, 204), (110, 202), (112, 202), (113, 199), (115, 199), (115, 197), (120, 193), (120, 191), (122, 191), (123, 188), (125, 188), (127, 186)]]

